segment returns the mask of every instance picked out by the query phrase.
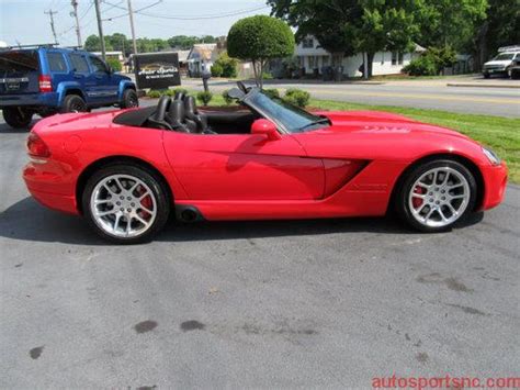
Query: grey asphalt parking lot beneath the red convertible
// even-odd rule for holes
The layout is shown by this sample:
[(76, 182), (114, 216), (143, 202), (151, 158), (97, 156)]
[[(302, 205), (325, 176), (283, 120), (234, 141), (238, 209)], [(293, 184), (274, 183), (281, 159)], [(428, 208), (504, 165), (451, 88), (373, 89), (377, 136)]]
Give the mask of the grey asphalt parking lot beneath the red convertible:
[(110, 246), (20, 177), (0, 123), (0, 388), (370, 387), (518, 376), (520, 188), (463, 229), (171, 224)]

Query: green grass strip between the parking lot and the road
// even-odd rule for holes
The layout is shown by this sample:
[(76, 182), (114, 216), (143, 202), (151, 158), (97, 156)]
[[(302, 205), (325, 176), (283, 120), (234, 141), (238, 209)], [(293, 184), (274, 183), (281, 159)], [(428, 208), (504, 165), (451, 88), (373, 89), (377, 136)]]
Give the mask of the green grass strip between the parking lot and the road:
[[(219, 93), (215, 93), (211, 104), (224, 105), (225, 102)], [(341, 111), (388, 111), (425, 123), (455, 130), (493, 148), (508, 164), (510, 181), (520, 183), (520, 119), (460, 114), (439, 110), (368, 105), (318, 99), (312, 99), (309, 107)]]

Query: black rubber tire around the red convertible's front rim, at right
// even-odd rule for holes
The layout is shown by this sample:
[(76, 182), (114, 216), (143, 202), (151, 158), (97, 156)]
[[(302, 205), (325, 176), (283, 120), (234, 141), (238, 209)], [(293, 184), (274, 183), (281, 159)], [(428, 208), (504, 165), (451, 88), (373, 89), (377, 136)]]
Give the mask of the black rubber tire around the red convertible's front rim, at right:
[[(470, 197), (467, 200), (467, 205), (465, 207), (464, 211), (457, 219), (448, 225), (444, 226), (427, 226), (420, 223), (412, 214), (409, 204), (409, 194), (410, 191), (414, 190), (412, 186), (416, 181), (426, 172), (434, 168), (451, 168), (456, 170), (461, 174), (468, 186)], [(437, 185), (436, 185), (437, 187)], [(446, 232), (450, 231), (452, 227), (456, 226), (461, 222), (463, 222), (468, 214), (471, 214), (475, 209), (475, 202), (477, 198), (477, 183), (473, 174), (465, 167), (463, 164), (452, 160), (452, 159), (436, 159), (430, 160), (420, 165), (412, 167), (404, 177), (404, 180), (400, 180), (400, 188), (396, 189), (396, 197), (395, 197), (395, 209), (399, 218), (407, 223), (410, 227), (425, 232), (425, 233), (438, 233), (438, 232)], [(429, 191), (429, 190), (428, 190)], [(431, 193), (430, 193), (431, 194)], [(426, 196), (426, 194), (425, 194)], [(423, 202), (427, 202), (425, 199)], [(433, 203), (432, 203), (433, 204)], [(441, 205), (442, 208), (442, 205)]]

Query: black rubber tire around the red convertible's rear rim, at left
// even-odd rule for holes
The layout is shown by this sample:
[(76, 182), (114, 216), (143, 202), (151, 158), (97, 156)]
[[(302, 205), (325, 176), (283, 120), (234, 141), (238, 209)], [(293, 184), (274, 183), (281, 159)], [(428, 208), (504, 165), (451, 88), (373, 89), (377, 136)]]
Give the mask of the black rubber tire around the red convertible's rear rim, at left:
[[(113, 235), (103, 230), (95, 222), (91, 210), (92, 192), (100, 181), (113, 175), (125, 175), (138, 178), (151, 190), (157, 207), (157, 215), (150, 226), (140, 235), (133, 237), (121, 237)], [(95, 171), (87, 181), (84, 190), (81, 194), (81, 204), (83, 214), (87, 218), (89, 225), (104, 239), (114, 244), (139, 244), (149, 242), (167, 223), (170, 211), (171, 200), (166, 183), (160, 180), (154, 172), (137, 165), (114, 163), (104, 166), (102, 169)]]

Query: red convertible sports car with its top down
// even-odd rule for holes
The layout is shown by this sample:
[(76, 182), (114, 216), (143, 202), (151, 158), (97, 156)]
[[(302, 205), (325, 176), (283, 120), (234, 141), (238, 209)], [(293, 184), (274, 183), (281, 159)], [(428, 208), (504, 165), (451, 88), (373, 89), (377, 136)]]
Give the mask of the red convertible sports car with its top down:
[(384, 215), (440, 232), (504, 198), (507, 168), (454, 131), (370, 111), (309, 113), (257, 88), (239, 105), (199, 111), (192, 97), (55, 115), (27, 140), (34, 198), (84, 215), (116, 243), (177, 220)]

